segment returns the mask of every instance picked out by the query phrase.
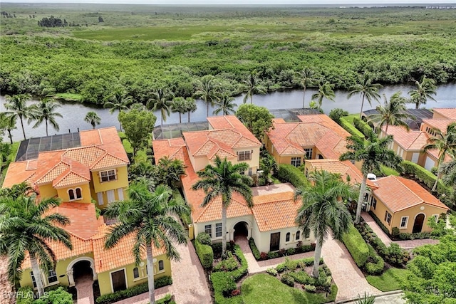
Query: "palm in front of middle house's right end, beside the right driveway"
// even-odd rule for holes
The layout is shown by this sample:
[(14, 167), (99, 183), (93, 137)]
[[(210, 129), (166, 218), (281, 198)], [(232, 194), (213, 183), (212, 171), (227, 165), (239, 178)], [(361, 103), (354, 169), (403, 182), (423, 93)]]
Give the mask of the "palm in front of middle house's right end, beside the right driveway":
[(348, 231), (351, 216), (341, 199), (356, 198), (356, 189), (342, 181), (340, 175), (326, 171), (311, 172), (311, 185), (296, 189), (295, 198), (301, 197), (302, 206), (296, 215), (296, 224), (315, 236), (314, 268), (312, 276), (318, 278), (318, 261), (321, 247), (329, 231), (335, 239)]

